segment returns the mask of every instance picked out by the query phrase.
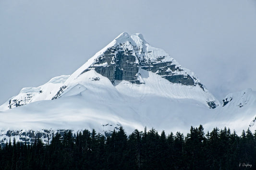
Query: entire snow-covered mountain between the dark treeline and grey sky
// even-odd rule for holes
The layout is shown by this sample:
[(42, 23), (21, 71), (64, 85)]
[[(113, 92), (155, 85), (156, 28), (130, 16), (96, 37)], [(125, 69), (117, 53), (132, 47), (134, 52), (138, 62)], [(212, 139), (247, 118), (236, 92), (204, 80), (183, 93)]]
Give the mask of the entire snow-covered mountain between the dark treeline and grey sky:
[(122, 33), (72, 75), (24, 88), (1, 105), (0, 140), (33, 142), (31, 136), (40, 134), (46, 141), (60, 129), (94, 128), (107, 135), (120, 125), (128, 133), (145, 126), (167, 133), (200, 124), (208, 130), (255, 128), (256, 94), (244, 92), (221, 104), (195, 73), (142, 34)]

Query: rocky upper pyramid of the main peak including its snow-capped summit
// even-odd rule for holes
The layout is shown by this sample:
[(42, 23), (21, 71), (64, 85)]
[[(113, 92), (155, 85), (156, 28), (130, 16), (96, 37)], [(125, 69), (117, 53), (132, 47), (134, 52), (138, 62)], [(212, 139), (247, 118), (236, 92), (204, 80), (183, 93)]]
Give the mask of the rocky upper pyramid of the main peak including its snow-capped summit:
[(199, 85), (204, 90), (194, 73), (183, 68), (163, 50), (150, 46), (141, 34), (123, 33), (115, 40), (115, 44), (105, 49), (81, 74), (94, 69), (110, 79), (112, 84), (115, 80), (140, 84), (143, 83), (138, 79), (140, 69), (145, 69), (172, 83)]

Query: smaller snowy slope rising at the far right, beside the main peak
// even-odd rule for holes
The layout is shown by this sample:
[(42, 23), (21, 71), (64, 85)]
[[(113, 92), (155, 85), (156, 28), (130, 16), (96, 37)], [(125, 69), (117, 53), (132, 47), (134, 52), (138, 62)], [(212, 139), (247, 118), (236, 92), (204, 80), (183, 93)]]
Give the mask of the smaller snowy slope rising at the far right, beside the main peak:
[(256, 91), (246, 89), (228, 94), (215, 112), (214, 121), (207, 126), (227, 126), (238, 132), (250, 128), (253, 132), (256, 130)]

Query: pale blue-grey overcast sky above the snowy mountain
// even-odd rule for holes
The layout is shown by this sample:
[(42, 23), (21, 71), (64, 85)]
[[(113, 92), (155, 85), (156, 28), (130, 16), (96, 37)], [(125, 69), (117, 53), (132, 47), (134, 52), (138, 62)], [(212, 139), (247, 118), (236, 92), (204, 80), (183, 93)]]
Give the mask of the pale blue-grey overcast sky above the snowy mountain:
[(141, 33), (219, 100), (256, 90), (256, 0), (0, 0), (0, 104)]

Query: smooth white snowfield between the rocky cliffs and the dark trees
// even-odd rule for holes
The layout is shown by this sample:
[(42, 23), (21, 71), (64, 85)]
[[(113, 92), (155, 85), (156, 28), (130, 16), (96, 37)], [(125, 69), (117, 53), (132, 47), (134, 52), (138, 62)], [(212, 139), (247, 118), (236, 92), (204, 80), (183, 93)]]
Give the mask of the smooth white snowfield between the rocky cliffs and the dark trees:
[[(96, 77), (99, 80), (92, 79)], [(94, 128), (103, 133), (106, 131), (103, 125), (109, 124), (122, 125), (127, 133), (144, 130), (145, 126), (167, 133), (186, 133), (191, 125), (202, 124), (206, 130), (227, 126), (240, 133), (256, 115), (255, 91), (233, 93), (230, 103), (209, 109), (204, 101), (213, 96), (197, 86), (172, 84), (145, 70), (141, 79), (145, 84), (121, 81), (113, 86), (109, 79), (94, 70), (88, 71), (59, 99), (32, 102), (1, 112), (1, 129)], [(240, 102), (246, 104), (239, 107)], [(250, 128), (254, 130), (255, 126)]]

